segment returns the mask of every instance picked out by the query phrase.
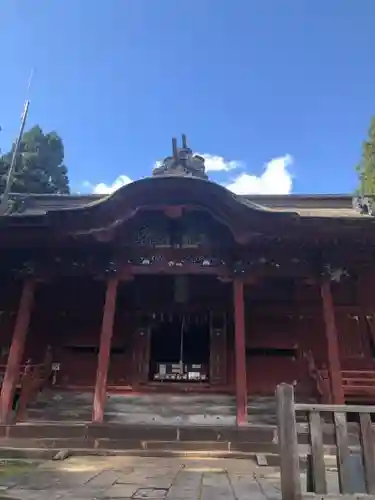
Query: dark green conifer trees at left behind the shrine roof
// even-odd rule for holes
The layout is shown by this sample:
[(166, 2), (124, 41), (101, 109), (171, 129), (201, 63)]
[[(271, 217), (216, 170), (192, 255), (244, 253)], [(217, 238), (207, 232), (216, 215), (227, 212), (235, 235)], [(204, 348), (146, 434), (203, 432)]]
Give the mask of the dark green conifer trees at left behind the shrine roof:
[[(12, 153), (13, 149), (0, 157), (0, 193), (5, 188)], [(37, 125), (23, 135), (11, 192), (69, 194), (68, 169), (64, 165), (64, 145), (56, 132), (44, 134)]]

